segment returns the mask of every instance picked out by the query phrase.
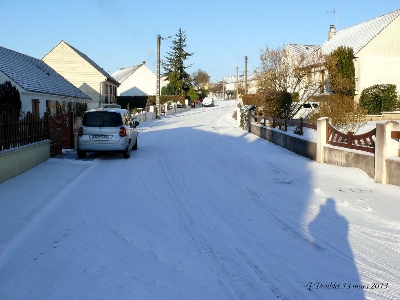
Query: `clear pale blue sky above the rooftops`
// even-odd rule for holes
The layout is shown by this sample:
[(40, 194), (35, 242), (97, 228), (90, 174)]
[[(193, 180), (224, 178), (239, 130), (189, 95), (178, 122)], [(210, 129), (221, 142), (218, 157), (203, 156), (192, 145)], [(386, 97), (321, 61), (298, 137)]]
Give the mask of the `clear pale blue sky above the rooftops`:
[[(258, 65), (265, 44), (322, 44), (338, 10), (338, 29), (400, 8), (385, 1), (5, 1), (0, 46), (42, 58), (61, 40), (114, 72), (146, 60), (156, 71), (157, 34), (186, 30), (189, 72), (201, 68), (212, 81), (234, 74), (247, 55)], [(6, 33), (8, 31), (8, 34)], [(171, 40), (171, 39), (170, 39)], [(162, 55), (169, 50), (164, 40)], [(244, 70), (244, 67), (242, 68)], [(241, 73), (242, 74), (242, 73)]]

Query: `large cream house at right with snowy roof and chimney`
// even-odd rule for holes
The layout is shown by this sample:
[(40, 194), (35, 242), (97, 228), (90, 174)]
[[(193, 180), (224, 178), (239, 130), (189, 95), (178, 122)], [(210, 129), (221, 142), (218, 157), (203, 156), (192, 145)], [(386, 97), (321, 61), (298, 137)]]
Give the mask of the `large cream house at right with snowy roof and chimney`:
[[(330, 54), (339, 46), (352, 47), (355, 68), (355, 96), (358, 101), (364, 88), (375, 84), (396, 84), (400, 89), (400, 9), (360, 24), (338, 30), (331, 25), (328, 40), (319, 50)], [(316, 70), (312, 85), (318, 86), (326, 70)], [(318, 82), (319, 81), (319, 82)], [(324, 100), (332, 94), (329, 83), (324, 85), (312, 100)]]

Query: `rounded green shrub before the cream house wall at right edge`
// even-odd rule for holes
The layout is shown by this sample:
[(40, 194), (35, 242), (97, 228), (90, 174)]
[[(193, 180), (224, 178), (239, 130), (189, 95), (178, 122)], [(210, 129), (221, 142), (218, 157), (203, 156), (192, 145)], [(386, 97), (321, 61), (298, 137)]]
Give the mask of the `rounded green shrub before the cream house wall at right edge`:
[(398, 106), (396, 85), (376, 84), (365, 88), (361, 92), (360, 104), (367, 110), (367, 114), (394, 110)]

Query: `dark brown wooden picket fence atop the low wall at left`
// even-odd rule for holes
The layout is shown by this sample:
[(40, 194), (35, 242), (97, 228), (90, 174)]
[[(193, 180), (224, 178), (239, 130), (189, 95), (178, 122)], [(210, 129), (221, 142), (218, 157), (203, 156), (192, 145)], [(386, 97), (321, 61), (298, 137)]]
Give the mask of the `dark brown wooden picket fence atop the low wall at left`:
[(0, 114), (0, 151), (41, 142), (48, 139), (48, 114), (36, 118), (28, 112), (24, 118)]

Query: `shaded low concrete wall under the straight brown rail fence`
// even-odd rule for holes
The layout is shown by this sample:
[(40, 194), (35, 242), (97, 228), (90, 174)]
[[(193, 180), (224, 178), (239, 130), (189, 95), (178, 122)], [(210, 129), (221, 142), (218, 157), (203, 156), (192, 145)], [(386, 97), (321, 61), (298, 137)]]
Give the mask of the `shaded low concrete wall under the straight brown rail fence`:
[(249, 132), (296, 154), (316, 160), (316, 142), (290, 136), (284, 131), (281, 132), (255, 123), (249, 124)]

